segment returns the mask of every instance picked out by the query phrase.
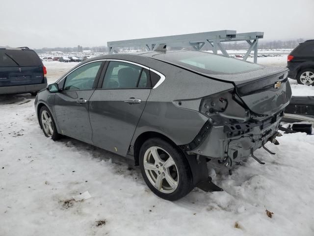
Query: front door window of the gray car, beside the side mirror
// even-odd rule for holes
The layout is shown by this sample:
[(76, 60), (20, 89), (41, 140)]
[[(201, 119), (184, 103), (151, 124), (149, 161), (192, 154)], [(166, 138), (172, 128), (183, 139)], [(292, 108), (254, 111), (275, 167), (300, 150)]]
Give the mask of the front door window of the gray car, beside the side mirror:
[(73, 71), (66, 77), (63, 90), (92, 89), (101, 64), (102, 61), (96, 61), (83, 65)]

